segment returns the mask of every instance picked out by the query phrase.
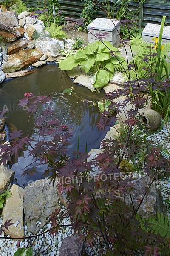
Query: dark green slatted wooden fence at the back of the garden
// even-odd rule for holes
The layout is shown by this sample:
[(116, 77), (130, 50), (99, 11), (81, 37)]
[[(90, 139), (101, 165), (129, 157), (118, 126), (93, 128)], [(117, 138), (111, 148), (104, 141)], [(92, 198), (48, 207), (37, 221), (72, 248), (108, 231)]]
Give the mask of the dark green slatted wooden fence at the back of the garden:
[[(60, 10), (63, 10), (65, 17), (70, 17), (73, 20), (79, 20), (79, 17), (82, 13), (84, 3), (81, 0), (58, 0), (60, 4)], [(112, 1), (111, 5), (112, 5)], [(47, 6), (49, 6), (48, 0), (46, 0)], [(44, 0), (28, 0), (26, 2), (28, 7), (38, 7), (44, 8)], [(131, 10), (139, 7), (139, 3), (134, 1), (129, 2), (129, 8)], [(166, 15), (165, 24), (170, 26), (170, 0), (146, 0), (144, 4), (140, 3), (140, 12), (139, 17), (140, 24), (139, 26), (146, 26), (147, 23), (161, 24), (161, 19), (163, 15)], [(106, 17), (104, 12), (97, 11), (93, 15), (93, 18), (96, 17)]]

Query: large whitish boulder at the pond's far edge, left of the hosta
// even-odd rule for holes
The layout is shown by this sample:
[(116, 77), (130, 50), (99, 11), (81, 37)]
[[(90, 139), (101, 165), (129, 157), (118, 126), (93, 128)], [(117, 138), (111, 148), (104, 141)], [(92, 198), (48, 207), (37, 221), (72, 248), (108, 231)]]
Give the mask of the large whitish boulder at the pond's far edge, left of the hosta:
[(42, 51), (43, 54), (47, 55), (48, 57), (57, 57), (61, 55), (59, 52), (59, 41), (50, 37), (38, 38), (35, 41), (35, 49)]

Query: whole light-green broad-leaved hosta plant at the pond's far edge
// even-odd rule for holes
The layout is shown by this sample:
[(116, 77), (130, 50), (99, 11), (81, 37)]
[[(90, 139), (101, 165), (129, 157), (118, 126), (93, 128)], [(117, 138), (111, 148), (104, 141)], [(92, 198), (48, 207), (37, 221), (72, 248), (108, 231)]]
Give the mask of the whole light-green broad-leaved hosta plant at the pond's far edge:
[(85, 49), (78, 50), (75, 56), (62, 60), (59, 68), (72, 70), (80, 66), (85, 73), (94, 74), (93, 86), (100, 90), (113, 78), (115, 70), (123, 70), (125, 64), (125, 58), (120, 55), (119, 49), (108, 41), (96, 41), (88, 44)]

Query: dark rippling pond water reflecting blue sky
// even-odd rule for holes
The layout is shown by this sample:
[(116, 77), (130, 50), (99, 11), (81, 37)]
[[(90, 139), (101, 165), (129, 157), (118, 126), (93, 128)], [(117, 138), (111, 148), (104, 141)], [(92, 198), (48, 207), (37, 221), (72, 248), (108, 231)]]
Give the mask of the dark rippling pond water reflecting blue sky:
[[(71, 95), (64, 94), (65, 88), (74, 87)], [(99, 132), (96, 123), (99, 122), (100, 114), (97, 105), (83, 102), (84, 99), (89, 101), (99, 101), (104, 96), (104, 92), (92, 93), (85, 87), (74, 84), (67, 76), (65, 71), (60, 70), (57, 65), (44, 65), (36, 68), (36, 71), (28, 76), (6, 81), (0, 87), (0, 108), (1, 110), (8, 108), (6, 124), (10, 131), (22, 130), (27, 131), (28, 115), (26, 112), (17, 110), (17, 104), (23, 98), (24, 93), (34, 93), (37, 95), (51, 94), (53, 97), (53, 108), (55, 117), (62, 124), (69, 125), (73, 135), (69, 154), (73, 150), (77, 150), (78, 134), (80, 134), (79, 151), (85, 151), (85, 143), (87, 142), (88, 151), (91, 148), (99, 148), (101, 140), (105, 137), (106, 131)], [(29, 123), (31, 131), (32, 124)], [(37, 141), (35, 131), (32, 134), (34, 143)], [(15, 171), (17, 182), (23, 186), (28, 184), (29, 180), (37, 180), (42, 178), (45, 166), (38, 169), (38, 174), (31, 178), (21, 177), (26, 166), (31, 164), (31, 158), (28, 157), (28, 151), (25, 151), (26, 160), (19, 157), (18, 163), (13, 163), (11, 169)], [(30, 165), (30, 167), (33, 165)]]

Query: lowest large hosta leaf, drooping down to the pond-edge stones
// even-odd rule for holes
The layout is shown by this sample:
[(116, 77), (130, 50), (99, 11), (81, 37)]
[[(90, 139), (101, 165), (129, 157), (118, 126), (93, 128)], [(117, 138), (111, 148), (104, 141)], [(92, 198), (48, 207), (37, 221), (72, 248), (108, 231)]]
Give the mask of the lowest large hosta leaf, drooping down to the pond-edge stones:
[(109, 82), (109, 72), (106, 70), (98, 70), (94, 75), (93, 87), (96, 89), (102, 89), (102, 87)]

